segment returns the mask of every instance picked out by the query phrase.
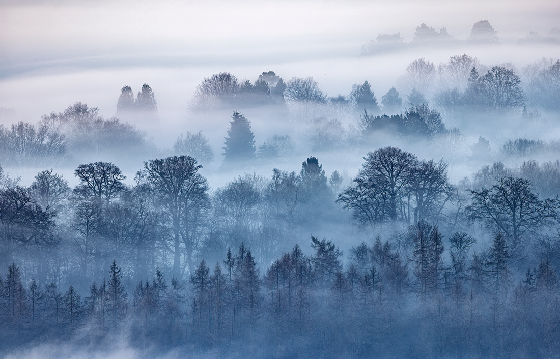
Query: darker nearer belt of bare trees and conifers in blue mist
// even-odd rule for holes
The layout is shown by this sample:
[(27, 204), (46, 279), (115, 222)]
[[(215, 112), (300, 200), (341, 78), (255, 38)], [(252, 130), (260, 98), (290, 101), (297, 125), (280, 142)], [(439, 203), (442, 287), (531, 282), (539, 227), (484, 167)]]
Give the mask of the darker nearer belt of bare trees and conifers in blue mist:
[[(496, 163), (455, 186), (445, 162), (387, 147), (349, 186), (315, 157), (214, 191), (188, 155), (147, 160), (133, 185), (109, 162), (78, 166), (73, 189), (53, 170), (29, 187), (2, 173), (4, 349), (132, 333), (274, 356), (552, 355), (560, 204), (536, 194), (551, 166)], [(341, 207), (363, 238), (346, 257), (316, 237), (282, 254), (344, 226)]]

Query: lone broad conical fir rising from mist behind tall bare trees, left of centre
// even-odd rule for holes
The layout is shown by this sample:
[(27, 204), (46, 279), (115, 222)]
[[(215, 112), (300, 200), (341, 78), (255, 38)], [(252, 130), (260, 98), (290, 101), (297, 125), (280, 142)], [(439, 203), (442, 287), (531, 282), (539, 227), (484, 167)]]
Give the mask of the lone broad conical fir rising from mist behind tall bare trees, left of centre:
[(235, 111), (231, 116), (230, 129), (222, 147), (224, 163), (235, 163), (255, 158), (255, 135), (251, 131), (251, 122)]

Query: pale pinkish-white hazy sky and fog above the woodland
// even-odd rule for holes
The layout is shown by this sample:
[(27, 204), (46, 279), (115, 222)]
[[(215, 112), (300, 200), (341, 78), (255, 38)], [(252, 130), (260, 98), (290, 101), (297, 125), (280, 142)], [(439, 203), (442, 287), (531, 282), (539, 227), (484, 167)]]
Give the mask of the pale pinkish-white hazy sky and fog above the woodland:
[[(203, 130), (218, 148), (226, 128), (213, 134), (214, 124), (188, 111), (197, 84), (214, 73), (251, 81), (269, 70), (286, 81), (312, 76), (330, 96), (347, 95), (367, 79), (380, 98), (421, 57), (437, 65), (467, 53), (483, 64), (509, 61), (518, 68), (543, 56), (559, 58), (558, 46), (516, 45), (529, 31), (545, 34), (558, 26), (559, 18), (560, 4), (550, 0), (0, 0), (0, 107), (15, 114), (0, 121), (36, 122), (77, 101), (108, 118), (123, 86), (136, 93), (148, 83), (162, 124), (150, 133), (157, 145), (169, 147), (178, 133)], [(410, 41), (425, 22), (464, 40), (479, 20), (492, 24), (502, 45), (360, 56), (377, 34), (400, 32)]]

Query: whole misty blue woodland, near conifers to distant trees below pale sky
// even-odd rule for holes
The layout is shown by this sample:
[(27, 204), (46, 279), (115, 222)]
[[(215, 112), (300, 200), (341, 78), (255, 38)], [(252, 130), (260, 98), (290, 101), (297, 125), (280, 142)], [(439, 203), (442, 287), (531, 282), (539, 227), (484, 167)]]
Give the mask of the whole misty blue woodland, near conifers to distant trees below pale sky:
[[(557, 356), (560, 140), (492, 149), (481, 129), (556, 128), (559, 98), (560, 60), (519, 71), (464, 54), (414, 60), (379, 102), (368, 81), (329, 97), (272, 71), (204, 78), (189, 111), (231, 116), (219, 154), (196, 128), (157, 148), (134, 125), (160, 121), (148, 84), (123, 87), (111, 119), (78, 102), (0, 126), (4, 169), (44, 168), (30, 186), (0, 168), (0, 351)], [(255, 111), (297, 138), (256, 143)], [(335, 152), (362, 166), (326, 173)], [(212, 187), (201, 169), (216, 163), (247, 171)], [(474, 170), (452, 183), (461, 166)]]

